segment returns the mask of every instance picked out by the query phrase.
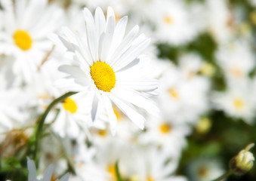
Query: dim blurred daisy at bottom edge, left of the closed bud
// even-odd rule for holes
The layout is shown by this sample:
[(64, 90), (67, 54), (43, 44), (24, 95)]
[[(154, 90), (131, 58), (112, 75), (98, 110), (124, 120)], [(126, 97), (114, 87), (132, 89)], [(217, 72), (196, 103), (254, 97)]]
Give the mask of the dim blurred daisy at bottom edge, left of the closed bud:
[(217, 158), (196, 158), (187, 169), (190, 180), (208, 181), (224, 174), (225, 170)]

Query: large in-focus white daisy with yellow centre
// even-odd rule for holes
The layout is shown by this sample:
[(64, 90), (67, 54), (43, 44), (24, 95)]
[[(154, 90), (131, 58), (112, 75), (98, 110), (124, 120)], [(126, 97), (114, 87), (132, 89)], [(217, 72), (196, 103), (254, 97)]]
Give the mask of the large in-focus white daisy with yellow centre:
[(150, 39), (143, 34), (137, 35), (138, 26), (134, 26), (125, 35), (128, 17), (122, 17), (116, 23), (112, 8), (108, 8), (106, 20), (100, 8), (96, 9), (95, 17), (87, 8), (82, 12), (86, 26), (86, 32), (82, 32), (82, 36), (63, 28), (65, 36), (50, 37), (55, 42), (64, 44), (79, 63), (79, 66), (60, 66), (60, 71), (69, 74), (69, 79), (64, 78), (58, 83), (69, 91), (91, 92), (92, 120), (95, 119), (98, 104), (103, 104), (112, 133), (116, 132), (117, 122), (112, 103), (143, 129), (145, 118), (137, 112), (137, 107), (153, 114), (158, 110), (143, 95), (156, 90), (158, 81), (143, 78), (143, 72), (138, 66), (140, 54), (150, 44)]

